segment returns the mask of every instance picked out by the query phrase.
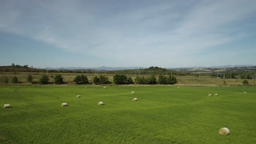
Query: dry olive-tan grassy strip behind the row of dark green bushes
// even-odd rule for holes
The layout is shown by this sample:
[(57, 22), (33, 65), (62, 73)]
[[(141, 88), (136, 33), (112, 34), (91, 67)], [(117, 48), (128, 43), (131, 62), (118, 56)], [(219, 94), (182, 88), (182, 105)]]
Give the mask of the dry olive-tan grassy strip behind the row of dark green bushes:
[[(12, 72), (5, 72), (0, 73), (0, 85), (6, 85), (3, 82), (1, 83), (1, 79), (3, 79), (3, 76), (7, 76), (9, 79), (8, 85), (11, 84), (11, 77), (17, 76), (18, 81), (21, 82), (22, 85), (29, 85), (29, 83), (26, 82), (27, 76), (31, 74), (34, 81), (39, 81), (39, 79), (42, 77), (45, 73), (12, 73)], [(63, 81), (67, 82), (67, 85), (73, 85), (74, 78), (77, 75), (82, 74), (75, 74), (75, 73), (49, 73), (49, 79), (50, 82), (54, 82), (54, 76), (57, 74), (61, 74), (63, 77)], [(89, 82), (92, 83), (92, 79), (94, 78), (95, 74), (84, 74), (88, 76)], [(101, 74), (98, 74), (101, 75)], [(109, 81), (113, 81), (113, 74), (102, 74), (106, 75), (109, 78)], [(133, 81), (135, 79), (135, 75), (127, 75), (131, 76)], [(150, 75), (140, 75), (144, 77), (149, 77)], [(243, 79), (217, 79), (212, 76), (176, 76), (177, 77), (177, 84), (181, 86), (242, 86)], [(156, 75), (156, 78), (158, 79), (158, 75)], [(224, 85), (224, 81), (226, 82), (226, 85)], [(256, 80), (248, 80), (249, 86), (256, 86)]]

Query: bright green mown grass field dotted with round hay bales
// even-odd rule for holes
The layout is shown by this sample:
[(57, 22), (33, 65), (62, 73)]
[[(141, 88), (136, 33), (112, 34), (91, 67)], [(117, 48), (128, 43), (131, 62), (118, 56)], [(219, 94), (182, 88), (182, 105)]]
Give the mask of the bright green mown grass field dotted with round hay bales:
[(255, 87), (1, 86), (0, 104), (0, 143), (256, 141)]

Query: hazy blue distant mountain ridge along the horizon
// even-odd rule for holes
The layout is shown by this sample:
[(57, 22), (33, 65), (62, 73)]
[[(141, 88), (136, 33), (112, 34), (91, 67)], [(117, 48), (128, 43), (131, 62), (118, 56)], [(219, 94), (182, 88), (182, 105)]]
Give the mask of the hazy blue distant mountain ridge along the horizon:
[[(98, 69), (98, 70), (125, 70), (125, 69), (144, 69), (145, 67), (98, 67), (98, 68), (84, 68), (84, 67), (60, 67), (60, 68), (47, 68), (48, 70), (79, 70), (79, 69)], [(40, 69), (40, 68), (39, 68)], [(46, 68), (44, 68), (46, 69)]]

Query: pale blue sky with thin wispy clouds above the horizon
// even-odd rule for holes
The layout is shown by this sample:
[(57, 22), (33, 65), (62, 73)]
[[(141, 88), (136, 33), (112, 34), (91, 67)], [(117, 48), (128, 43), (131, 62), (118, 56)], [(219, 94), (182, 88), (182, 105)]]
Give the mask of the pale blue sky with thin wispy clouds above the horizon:
[(256, 65), (255, 53), (255, 0), (0, 0), (0, 65)]

